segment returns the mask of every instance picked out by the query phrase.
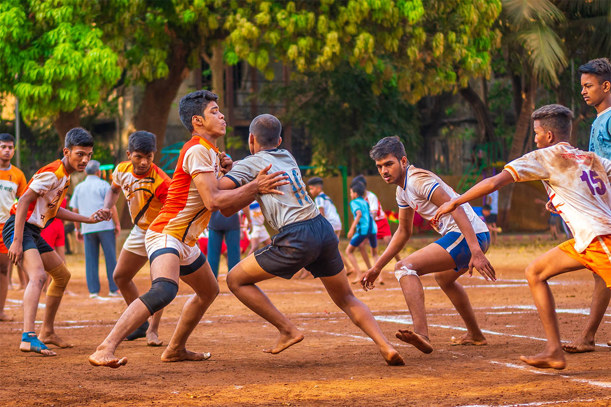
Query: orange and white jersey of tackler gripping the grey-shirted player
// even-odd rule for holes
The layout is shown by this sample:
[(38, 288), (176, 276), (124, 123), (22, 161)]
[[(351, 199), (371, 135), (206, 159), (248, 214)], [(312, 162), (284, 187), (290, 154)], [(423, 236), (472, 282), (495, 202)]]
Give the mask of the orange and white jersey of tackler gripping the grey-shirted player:
[(180, 150), (166, 203), (149, 229), (174, 236), (189, 246), (195, 245), (210, 220), (210, 211), (193, 182), (199, 173), (214, 173), (220, 178), (221, 159), (216, 146), (194, 135)]

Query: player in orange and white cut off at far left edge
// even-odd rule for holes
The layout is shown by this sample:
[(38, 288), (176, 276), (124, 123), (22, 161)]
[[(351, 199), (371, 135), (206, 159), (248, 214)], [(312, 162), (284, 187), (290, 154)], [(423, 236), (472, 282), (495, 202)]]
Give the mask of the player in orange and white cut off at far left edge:
[[(10, 207), (26, 190), (26, 176), (10, 160), (15, 155), (15, 137), (8, 133), (0, 134), (0, 230), (10, 215)], [(11, 267), (9, 249), (0, 238), (0, 321), (12, 321), (4, 314), (4, 304), (9, 290), (9, 268)]]

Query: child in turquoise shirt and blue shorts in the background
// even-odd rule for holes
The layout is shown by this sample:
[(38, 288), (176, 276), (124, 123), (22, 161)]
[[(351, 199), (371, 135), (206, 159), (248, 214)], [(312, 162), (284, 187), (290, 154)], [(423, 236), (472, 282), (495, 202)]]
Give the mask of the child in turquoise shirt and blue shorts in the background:
[[(378, 247), (378, 226), (371, 217), (369, 212), (369, 204), (365, 201), (365, 185), (362, 182), (356, 182), (350, 189), (350, 209), (354, 216), (354, 221), (348, 231), (348, 239), (350, 243), (346, 248), (346, 257), (350, 260), (356, 273), (356, 279), (352, 282), (356, 284), (360, 281), (361, 273), (359, 264), (354, 256), (354, 250), (359, 247), (363, 240), (368, 239), (372, 248)], [(374, 254), (373, 262), (378, 261), (379, 256)]]

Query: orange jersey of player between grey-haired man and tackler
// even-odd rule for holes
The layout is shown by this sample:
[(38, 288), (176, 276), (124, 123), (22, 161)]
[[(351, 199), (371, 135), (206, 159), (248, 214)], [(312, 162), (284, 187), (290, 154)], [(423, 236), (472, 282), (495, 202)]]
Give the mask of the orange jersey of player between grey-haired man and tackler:
[(145, 175), (136, 175), (131, 161), (123, 161), (112, 173), (112, 184), (120, 187), (125, 194), (131, 222), (142, 230), (147, 230), (159, 215), (166, 202), (170, 181), (170, 177), (155, 164)]

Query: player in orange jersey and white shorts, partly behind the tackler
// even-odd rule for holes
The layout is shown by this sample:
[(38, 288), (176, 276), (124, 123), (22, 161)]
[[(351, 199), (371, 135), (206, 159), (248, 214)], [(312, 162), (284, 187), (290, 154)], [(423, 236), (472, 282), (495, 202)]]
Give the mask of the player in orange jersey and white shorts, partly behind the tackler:
[[(104, 208), (111, 210), (123, 191), (130, 209), (131, 221), (134, 223), (130, 236), (123, 243), (112, 275), (128, 305), (139, 295), (133, 278), (148, 261), (144, 236), (150, 223), (161, 211), (170, 186), (169, 176), (153, 164), (156, 143), (155, 134), (148, 131), (136, 131), (130, 135), (128, 161), (121, 162), (115, 168), (111, 187), (104, 198)], [(163, 341), (159, 340), (158, 329), (162, 312), (163, 310), (155, 312), (150, 324), (148, 321), (144, 322), (129, 334), (126, 340), (146, 337), (148, 346), (161, 346)]]

